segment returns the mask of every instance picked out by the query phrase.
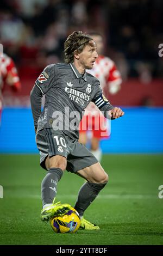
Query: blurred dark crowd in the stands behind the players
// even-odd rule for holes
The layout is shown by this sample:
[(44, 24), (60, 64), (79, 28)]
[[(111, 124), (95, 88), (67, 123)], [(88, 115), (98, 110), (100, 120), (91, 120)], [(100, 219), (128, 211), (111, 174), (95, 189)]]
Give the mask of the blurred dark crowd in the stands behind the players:
[[(46, 65), (64, 61), (64, 41), (73, 31), (101, 33), (104, 53), (115, 61), (123, 82), (132, 77), (148, 84), (163, 74), (161, 7), (161, 0), (1, 0), (0, 41), (25, 88)], [(146, 103), (160, 105), (150, 95), (135, 105)]]

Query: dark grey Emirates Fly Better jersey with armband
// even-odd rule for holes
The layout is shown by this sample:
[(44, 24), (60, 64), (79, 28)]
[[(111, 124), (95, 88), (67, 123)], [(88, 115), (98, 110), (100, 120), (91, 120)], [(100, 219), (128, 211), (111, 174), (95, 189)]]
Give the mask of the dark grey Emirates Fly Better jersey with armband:
[[(41, 112), (43, 94), (45, 105)], [(81, 75), (72, 63), (48, 65), (37, 78), (30, 100), (37, 131), (53, 127), (77, 139), (80, 120), (90, 101), (104, 111), (105, 116), (114, 108), (103, 96), (97, 78), (86, 72)]]

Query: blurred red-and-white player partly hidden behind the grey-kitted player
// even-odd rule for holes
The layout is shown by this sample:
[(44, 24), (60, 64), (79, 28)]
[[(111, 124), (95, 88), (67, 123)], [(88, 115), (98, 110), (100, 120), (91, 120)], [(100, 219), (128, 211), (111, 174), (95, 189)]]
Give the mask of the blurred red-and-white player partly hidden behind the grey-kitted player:
[[(116, 94), (122, 83), (120, 72), (117, 70), (115, 63), (108, 57), (103, 55), (104, 42), (101, 34), (91, 33), (91, 38), (97, 46), (98, 58), (93, 68), (87, 70), (91, 75), (95, 76), (106, 94)], [(98, 125), (97, 125), (98, 124)], [(106, 121), (99, 109), (92, 102), (85, 109), (85, 115), (79, 126), (79, 142), (87, 143), (87, 131), (91, 131), (91, 153), (95, 155), (100, 162), (102, 151), (99, 145), (101, 138), (108, 138), (108, 129)]]

